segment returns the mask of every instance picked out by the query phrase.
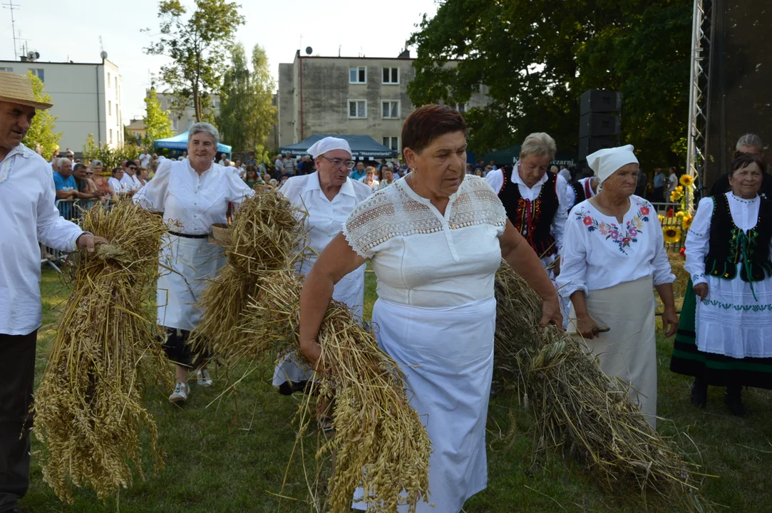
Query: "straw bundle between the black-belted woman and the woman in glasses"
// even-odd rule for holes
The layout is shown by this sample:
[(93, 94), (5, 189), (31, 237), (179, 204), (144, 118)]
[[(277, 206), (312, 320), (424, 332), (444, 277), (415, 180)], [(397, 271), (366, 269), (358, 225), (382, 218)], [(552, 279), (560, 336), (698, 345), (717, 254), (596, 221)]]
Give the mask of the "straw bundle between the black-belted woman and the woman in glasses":
[(201, 293), (203, 316), (191, 343), (209, 346), (231, 365), (256, 356), (257, 339), (239, 329), (242, 312), (249, 297), (259, 292), (260, 278), (290, 268), (300, 258), (296, 248), (303, 246), (306, 215), (276, 191), (256, 194), (239, 205), (225, 248), (225, 267)]

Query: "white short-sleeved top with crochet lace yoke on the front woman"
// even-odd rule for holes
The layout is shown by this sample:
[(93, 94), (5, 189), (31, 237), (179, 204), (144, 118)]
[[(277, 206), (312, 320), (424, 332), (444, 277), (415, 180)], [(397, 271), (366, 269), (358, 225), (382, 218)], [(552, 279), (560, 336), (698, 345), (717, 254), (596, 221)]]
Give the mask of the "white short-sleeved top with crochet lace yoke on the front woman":
[(445, 215), (400, 179), (363, 201), (344, 224), (378, 276), (378, 297), (440, 308), (493, 295), (506, 211), (480, 177), (467, 175)]

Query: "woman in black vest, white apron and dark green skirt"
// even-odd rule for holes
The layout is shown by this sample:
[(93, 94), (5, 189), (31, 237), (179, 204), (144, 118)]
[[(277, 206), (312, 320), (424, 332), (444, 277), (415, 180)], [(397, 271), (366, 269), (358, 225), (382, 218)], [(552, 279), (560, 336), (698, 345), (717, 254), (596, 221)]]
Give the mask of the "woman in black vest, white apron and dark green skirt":
[[(760, 197), (764, 162), (737, 154), (732, 190), (699, 202), (686, 236), (686, 294), (670, 370), (694, 376), (692, 403), (726, 386), (742, 417), (743, 386), (772, 389), (772, 202)], [(690, 290), (690, 289), (688, 289)]]

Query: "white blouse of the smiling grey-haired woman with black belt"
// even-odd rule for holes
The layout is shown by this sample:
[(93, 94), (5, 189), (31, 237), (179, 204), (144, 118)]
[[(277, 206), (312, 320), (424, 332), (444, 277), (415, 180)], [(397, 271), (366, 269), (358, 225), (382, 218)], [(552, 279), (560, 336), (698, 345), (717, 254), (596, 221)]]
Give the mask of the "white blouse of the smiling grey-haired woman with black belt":
[(153, 212), (163, 212), (164, 221), (178, 221), (172, 231), (206, 235), (212, 224), (225, 223), (228, 204), (235, 205), (255, 194), (231, 170), (212, 164), (201, 176), (190, 160), (164, 160), (153, 180), (134, 194), (134, 202)]

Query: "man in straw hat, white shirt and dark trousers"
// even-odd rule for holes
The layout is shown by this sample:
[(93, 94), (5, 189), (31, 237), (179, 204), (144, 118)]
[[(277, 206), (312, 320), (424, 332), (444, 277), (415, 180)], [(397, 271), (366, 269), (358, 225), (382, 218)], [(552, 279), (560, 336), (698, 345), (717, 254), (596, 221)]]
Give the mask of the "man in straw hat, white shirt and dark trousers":
[[(61, 251), (104, 241), (59, 217), (51, 167), (22, 144), (36, 110), (48, 109), (29, 77), (0, 72), (0, 511), (19, 511), (29, 487), (29, 429), (42, 312), (38, 241)], [(21, 437), (19, 437), (21, 434)]]

